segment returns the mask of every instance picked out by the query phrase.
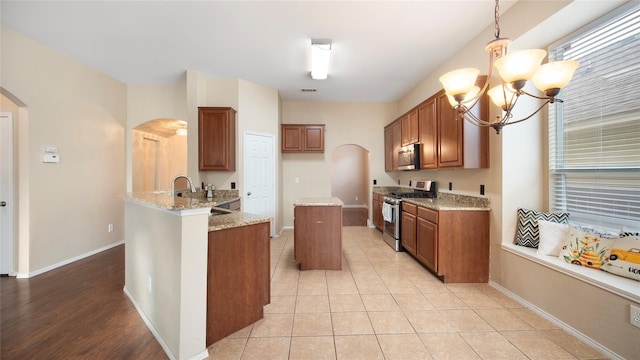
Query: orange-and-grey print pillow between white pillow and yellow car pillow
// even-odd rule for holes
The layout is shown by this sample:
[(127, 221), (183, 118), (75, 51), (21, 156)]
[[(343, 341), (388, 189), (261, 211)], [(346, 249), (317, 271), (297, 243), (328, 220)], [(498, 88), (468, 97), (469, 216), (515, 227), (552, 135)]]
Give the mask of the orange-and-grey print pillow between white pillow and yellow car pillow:
[(615, 240), (569, 225), (569, 235), (559, 257), (568, 263), (600, 269), (609, 258)]

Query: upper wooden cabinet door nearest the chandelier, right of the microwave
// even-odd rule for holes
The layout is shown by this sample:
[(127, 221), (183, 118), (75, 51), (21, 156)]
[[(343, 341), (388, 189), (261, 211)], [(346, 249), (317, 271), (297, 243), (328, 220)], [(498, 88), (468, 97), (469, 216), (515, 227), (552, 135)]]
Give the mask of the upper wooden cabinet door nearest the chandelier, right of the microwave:
[(438, 112), (438, 167), (460, 167), (462, 157), (463, 121), (457, 118), (456, 110), (449, 103), (444, 91), (436, 97)]

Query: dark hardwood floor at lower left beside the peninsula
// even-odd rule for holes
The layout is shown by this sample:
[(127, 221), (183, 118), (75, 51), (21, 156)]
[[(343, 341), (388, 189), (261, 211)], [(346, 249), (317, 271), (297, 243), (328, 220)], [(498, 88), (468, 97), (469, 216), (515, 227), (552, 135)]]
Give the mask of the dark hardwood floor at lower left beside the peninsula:
[(0, 279), (0, 359), (167, 359), (123, 292), (124, 245)]

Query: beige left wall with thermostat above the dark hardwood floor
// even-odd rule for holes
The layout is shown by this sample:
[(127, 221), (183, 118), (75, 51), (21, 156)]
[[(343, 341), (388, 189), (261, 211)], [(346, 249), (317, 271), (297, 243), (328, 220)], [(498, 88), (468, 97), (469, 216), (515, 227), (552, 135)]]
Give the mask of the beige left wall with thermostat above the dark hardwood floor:
[[(4, 25), (1, 37), (2, 87), (28, 113), (18, 125), (28, 265), (14, 264), (26, 275), (123, 240), (126, 86)], [(42, 163), (45, 145), (60, 163)]]

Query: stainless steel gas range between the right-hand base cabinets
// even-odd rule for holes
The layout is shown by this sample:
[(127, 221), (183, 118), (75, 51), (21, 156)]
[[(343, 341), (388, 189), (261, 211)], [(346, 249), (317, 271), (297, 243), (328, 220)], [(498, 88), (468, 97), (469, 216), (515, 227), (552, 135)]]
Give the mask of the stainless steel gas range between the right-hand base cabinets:
[(435, 198), (436, 182), (429, 180), (411, 180), (409, 187), (399, 187), (383, 197), (382, 218), (384, 231), (382, 238), (395, 251), (404, 251), (401, 243), (401, 215), (403, 198)]

